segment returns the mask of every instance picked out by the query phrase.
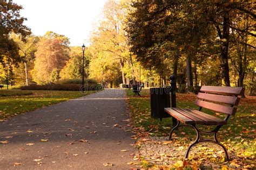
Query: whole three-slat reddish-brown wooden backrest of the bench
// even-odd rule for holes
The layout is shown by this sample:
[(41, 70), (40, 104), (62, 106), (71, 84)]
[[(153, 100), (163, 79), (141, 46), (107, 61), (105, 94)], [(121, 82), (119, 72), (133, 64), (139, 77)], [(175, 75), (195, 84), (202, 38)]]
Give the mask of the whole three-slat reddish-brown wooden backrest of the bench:
[(215, 112), (234, 115), (240, 102), (238, 96), (243, 93), (242, 87), (202, 86), (195, 104)]

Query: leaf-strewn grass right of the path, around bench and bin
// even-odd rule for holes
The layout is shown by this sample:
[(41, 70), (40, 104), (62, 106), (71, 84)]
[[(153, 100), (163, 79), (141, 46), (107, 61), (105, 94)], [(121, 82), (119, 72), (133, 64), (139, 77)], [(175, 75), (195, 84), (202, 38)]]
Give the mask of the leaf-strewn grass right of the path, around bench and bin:
[[(172, 126), (171, 118), (163, 118), (162, 122), (160, 122), (159, 119), (151, 118), (149, 90), (142, 91), (141, 97), (134, 96), (132, 90), (127, 90), (127, 95), (129, 96), (131, 119), (134, 126), (145, 130), (145, 133), (148, 133), (149, 136), (167, 137), (171, 130), (170, 127)], [(195, 100), (196, 95), (177, 94), (177, 107), (197, 109), (197, 105), (194, 105)], [(220, 118), (225, 117), (225, 114), (213, 114), (210, 110), (203, 111)], [(227, 125), (224, 125), (218, 133), (219, 141), (223, 142), (228, 150), (233, 150), (234, 154), (241, 159), (239, 161), (244, 165), (255, 164), (255, 124), (256, 97), (250, 96), (241, 100), (235, 116), (231, 116), (230, 119), (228, 119)], [(206, 129), (210, 129), (210, 127)], [(176, 137), (183, 139), (182, 141), (177, 140), (177, 142), (183, 143), (181, 146), (185, 147), (188, 146), (196, 136), (196, 133), (190, 127), (179, 128), (174, 131), (174, 133)], [(210, 136), (210, 138), (212, 139), (212, 136)], [(223, 160), (215, 161), (217, 161), (217, 163), (223, 162)]]

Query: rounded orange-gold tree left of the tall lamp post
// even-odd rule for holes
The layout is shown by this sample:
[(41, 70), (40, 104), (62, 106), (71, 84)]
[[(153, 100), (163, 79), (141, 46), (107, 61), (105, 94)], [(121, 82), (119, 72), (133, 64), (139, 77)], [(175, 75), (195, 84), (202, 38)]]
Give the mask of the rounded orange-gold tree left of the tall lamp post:
[(59, 79), (59, 72), (69, 59), (68, 45), (68, 38), (53, 32), (46, 32), (40, 38), (32, 70), (33, 81), (46, 84)]

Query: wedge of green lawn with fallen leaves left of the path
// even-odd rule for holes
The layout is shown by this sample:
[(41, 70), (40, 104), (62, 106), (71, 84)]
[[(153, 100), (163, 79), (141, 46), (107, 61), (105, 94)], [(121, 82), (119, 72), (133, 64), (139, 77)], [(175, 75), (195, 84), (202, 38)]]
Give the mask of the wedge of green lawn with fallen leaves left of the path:
[(0, 119), (78, 98), (94, 91), (0, 90)]

